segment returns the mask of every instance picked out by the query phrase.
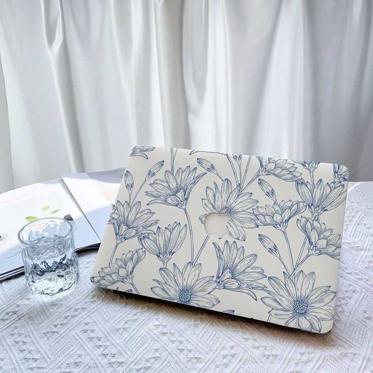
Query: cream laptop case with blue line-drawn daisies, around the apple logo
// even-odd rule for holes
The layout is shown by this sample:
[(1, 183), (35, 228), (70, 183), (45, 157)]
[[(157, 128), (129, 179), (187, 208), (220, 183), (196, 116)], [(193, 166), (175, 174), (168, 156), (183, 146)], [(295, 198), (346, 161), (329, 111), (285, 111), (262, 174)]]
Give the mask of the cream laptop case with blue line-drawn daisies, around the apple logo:
[[(91, 282), (326, 333), (348, 173), (338, 164), (135, 146)], [(223, 237), (206, 233), (211, 214), (226, 219)]]

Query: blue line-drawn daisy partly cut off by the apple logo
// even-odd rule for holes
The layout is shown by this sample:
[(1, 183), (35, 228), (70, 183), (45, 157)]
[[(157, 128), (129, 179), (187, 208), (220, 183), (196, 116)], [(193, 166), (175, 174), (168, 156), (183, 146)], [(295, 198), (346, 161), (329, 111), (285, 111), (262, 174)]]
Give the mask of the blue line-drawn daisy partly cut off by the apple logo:
[[(227, 222), (229, 234), (236, 240), (244, 241), (246, 234), (244, 228), (256, 228), (255, 215), (249, 210), (258, 201), (251, 198), (252, 193), (240, 193), (240, 184), (232, 190), (232, 183), (224, 179), (221, 189), (214, 182), (214, 189), (206, 188), (207, 199), (202, 199), (202, 205), (208, 213), (226, 214), (230, 219)], [(201, 215), (203, 223), (207, 214)]]

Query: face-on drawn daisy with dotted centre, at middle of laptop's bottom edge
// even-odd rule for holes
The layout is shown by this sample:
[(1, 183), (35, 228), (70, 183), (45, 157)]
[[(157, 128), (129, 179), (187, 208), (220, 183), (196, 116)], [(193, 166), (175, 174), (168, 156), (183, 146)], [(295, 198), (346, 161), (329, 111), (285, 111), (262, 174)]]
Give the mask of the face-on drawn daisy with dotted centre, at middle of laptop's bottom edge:
[(155, 281), (159, 286), (152, 291), (161, 299), (195, 307), (211, 308), (219, 303), (215, 295), (210, 294), (217, 286), (213, 276), (200, 277), (201, 264), (192, 266), (187, 263), (182, 271), (173, 265), (173, 273), (167, 268), (160, 268), (163, 281)]

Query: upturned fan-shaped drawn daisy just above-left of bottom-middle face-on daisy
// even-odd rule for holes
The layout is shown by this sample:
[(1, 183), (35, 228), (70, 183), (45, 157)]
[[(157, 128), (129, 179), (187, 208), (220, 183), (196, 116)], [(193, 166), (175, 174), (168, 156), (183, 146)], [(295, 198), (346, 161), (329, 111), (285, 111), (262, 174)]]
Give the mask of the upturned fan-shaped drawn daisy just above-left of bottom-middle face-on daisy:
[(172, 226), (168, 225), (164, 230), (158, 227), (156, 234), (139, 236), (138, 241), (146, 251), (156, 255), (166, 267), (187, 235), (187, 225), (180, 227), (180, 223), (175, 221)]

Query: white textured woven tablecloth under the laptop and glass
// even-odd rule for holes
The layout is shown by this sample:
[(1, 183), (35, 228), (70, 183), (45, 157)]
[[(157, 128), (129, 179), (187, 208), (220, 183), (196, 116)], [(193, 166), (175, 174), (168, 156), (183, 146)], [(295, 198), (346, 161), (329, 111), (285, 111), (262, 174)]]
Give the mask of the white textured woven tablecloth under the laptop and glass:
[(80, 284), (55, 301), (23, 276), (0, 284), (1, 372), (373, 372), (373, 182), (349, 184), (326, 335), (98, 289), (95, 256), (79, 253)]

